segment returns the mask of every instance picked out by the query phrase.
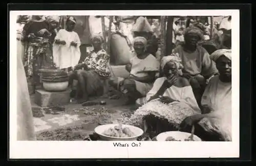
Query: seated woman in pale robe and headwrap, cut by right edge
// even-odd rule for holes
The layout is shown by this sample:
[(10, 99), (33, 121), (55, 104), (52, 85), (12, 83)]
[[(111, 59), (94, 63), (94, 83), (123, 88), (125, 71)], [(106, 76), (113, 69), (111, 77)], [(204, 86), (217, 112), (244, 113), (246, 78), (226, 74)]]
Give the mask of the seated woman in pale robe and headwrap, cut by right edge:
[(189, 116), (181, 128), (195, 124), (195, 134), (205, 141), (231, 141), (231, 50), (211, 54), (219, 75), (212, 77), (202, 97), (202, 114)]

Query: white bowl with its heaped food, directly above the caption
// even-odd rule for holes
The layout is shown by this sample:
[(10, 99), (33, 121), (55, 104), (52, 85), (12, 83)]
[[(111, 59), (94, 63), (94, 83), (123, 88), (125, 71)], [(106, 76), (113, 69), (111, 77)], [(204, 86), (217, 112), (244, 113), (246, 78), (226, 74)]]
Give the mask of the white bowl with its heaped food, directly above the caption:
[(143, 130), (136, 126), (125, 124), (106, 124), (94, 129), (103, 141), (137, 141)]

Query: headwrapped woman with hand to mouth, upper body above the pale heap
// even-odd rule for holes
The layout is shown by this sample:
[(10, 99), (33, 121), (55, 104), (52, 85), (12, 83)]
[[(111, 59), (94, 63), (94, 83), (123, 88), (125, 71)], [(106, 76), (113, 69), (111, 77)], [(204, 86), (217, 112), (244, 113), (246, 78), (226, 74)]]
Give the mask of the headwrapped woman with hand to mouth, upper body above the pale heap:
[(163, 57), (161, 69), (164, 76), (156, 79), (153, 88), (146, 95), (146, 102), (158, 98), (163, 103), (183, 100), (191, 108), (200, 112), (188, 80), (182, 77), (181, 59), (174, 54)]

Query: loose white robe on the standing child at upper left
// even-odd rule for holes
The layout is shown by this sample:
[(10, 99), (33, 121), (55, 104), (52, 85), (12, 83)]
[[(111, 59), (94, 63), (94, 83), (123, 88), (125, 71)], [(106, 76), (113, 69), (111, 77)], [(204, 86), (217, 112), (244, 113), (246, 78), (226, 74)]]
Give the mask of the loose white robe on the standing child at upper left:
[[(56, 67), (65, 69), (77, 65), (81, 56), (79, 48), (81, 41), (78, 34), (62, 29), (57, 33), (56, 39), (66, 41), (66, 45), (53, 44), (53, 61)], [(77, 43), (76, 47), (70, 45), (72, 41)]]

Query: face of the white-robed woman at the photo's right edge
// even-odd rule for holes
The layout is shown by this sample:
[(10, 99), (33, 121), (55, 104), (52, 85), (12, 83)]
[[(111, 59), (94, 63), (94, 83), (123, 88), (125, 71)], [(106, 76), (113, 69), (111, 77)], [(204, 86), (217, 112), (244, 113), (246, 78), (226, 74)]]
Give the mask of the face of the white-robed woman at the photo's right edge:
[(226, 76), (228, 78), (231, 77), (231, 61), (227, 57), (221, 56), (216, 61), (216, 67), (220, 75)]

